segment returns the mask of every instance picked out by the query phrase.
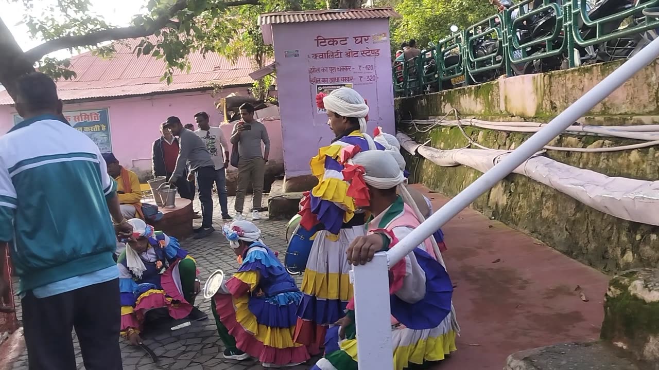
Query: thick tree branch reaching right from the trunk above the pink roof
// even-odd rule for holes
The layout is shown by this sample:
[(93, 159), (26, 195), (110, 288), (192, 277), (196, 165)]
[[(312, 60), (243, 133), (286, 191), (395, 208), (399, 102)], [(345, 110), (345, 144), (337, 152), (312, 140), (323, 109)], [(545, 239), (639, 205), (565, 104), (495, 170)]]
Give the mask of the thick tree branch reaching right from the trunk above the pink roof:
[[(109, 30), (101, 30), (97, 32), (92, 32), (86, 35), (79, 36), (63, 36), (61, 38), (46, 41), (39, 46), (33, 47), (32, 49), (25, 52), (25, 57), (28, 61), (32, 63), (42, 59), (44, 55), (52, 53), (53, 51), (61, 49), (69, 49), (71, 47), (81, 47), (81, 46), (90, 46), (98, 45), (98, 43), (112, 40), (123, 40), (130, 38), (142, 38), (145, 36), (151, 36), (157, 30), (167, 26), (167, 23), (171, 22), (171, 18), (182, 11), (187, 7), (187, 0), (177, 0), (174, 5), (169, 8), (167, 13), (159, 16), (154, 20), (154, 23), (150, 27), (146, 26), (130, 26), (122, 28), (110, 28)], [(225, 7), (238, 7), (240, 5), (258, 5), (259, 0), (237, 0), (237, 1), (227, 1), (224, 3)]]

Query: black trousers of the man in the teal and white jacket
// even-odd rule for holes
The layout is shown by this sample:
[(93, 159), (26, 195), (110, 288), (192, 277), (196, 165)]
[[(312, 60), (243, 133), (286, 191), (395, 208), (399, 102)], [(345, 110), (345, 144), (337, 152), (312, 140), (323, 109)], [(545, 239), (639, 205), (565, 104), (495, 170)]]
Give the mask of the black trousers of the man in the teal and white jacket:
[(122, 370), (119, 279), (38, 299), (21, 300), (30, 370), (76, 369), (75, 328), (87, 370)]

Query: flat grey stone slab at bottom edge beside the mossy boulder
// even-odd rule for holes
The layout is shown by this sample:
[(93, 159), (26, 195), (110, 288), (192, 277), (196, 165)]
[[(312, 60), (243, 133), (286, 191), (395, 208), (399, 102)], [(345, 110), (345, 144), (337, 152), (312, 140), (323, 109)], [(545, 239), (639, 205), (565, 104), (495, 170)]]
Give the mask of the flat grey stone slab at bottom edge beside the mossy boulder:
[(606, 342), (565, 343), (515, 352), (503, 370), (641, 370)]

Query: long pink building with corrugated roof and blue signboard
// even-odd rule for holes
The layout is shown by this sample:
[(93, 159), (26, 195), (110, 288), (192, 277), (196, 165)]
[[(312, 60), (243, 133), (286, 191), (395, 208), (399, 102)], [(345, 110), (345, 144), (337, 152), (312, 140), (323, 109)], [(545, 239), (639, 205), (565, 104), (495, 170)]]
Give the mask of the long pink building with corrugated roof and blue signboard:
[[(72, 126), (88, 134), (101, 151), (113, 151), (125, 167), (150, 171), (152, 143), (160, 136), (160, 123), (177, 116), (184, 124), (194, 124), (194, 113), (205, 111), (211, 124), (220, 126), (224, 117), (215, 107), (217, 101), (230, 93), (248, 95), (252, 66), (247, 58), (234, 64), (216, 54), (204, 58), (193, 53), (188, 57), (190, 73), (176, 72), (167, 85), (160, 81), (165, 71), (162, 59), (138, 58), (132, 53), (138, 42), (116, 43), (117, 53), (111, 59), (92, 53), (76, 55), (71, 59), (76, 78), (57, 82), (57, 88)], [(221, 89), (215, 90), (217, 86)], [(0, 92), (0, 133), (17, 121), (13, 100)], [(279, 120), (264, 124), (270, 134), (270, 158), (281, 163)], [(227, 140), (232, 126), (221, 125)]]

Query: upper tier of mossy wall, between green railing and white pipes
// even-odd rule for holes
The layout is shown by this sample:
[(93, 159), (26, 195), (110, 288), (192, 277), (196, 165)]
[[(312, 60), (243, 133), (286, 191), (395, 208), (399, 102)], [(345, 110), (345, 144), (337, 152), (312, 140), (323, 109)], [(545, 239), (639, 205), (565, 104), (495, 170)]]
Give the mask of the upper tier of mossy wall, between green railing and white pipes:
[[(399, 113), (436, 116), (455, 108), (463, 116), (550, 119), (569, 107), (611, 72), (619, 62), (600, 63), (544, 74), (501, 78), (494, 82), (445, 92), (397, 99)], [(654, 61), (596, 105), (587, 116), (596, 124), (620, 124), (621, 119), (650, 116), (659, 120), (659, 60)], [(646, 123), (650, 123), (647, 119)]]

